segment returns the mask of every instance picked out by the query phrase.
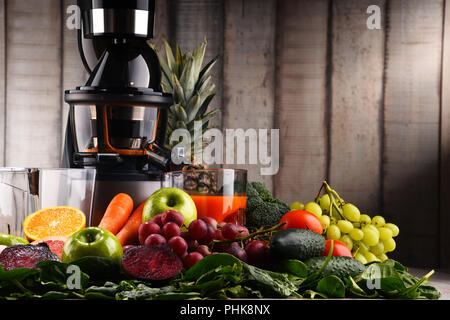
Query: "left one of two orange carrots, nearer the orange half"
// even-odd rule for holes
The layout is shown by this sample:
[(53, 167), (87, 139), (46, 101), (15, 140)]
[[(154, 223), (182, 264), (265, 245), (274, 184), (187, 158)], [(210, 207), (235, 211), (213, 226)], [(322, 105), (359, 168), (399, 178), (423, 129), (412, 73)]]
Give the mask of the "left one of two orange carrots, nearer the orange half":
[(133, 199), (126, 193), (119, 193), (109, 203), (98, 226), (116, 234), (125, 225), (132, 212)]

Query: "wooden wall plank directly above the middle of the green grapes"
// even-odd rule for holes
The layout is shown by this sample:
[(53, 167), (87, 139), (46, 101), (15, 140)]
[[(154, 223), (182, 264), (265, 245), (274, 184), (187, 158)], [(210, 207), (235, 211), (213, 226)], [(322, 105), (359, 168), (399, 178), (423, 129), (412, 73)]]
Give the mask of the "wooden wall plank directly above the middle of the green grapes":
[(370, 5), (385, 11), (384, 0), (333, 1), (329, 180), (378, 212), (385, 28), (367, 28)]

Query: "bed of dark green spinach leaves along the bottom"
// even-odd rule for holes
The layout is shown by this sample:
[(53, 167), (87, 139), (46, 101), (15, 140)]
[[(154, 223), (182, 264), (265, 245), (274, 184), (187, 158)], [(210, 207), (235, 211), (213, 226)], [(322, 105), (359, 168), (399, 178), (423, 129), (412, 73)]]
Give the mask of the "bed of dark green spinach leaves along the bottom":
[[(331, 252), (331, 250), (330, 250)], [(439, 299), (427, 285), (433, 271), (417, 278), (394, 260), (373, 263), (356, 276), (326, 274), (331, 255), (320, 269), (308, 272), (298, 260), (284, 260), (277, 272), (249, 265), (232, 255), (207, 256), (168, 282), (143, 282), (117, 273), (116, 266), (95, 257), (73, 262), (80, 271), (80, 287), (71, 288), (70, 264), (43, 261), (37, 269), (5, 271), (0, 266), (0, 299), (115, 299), (191, 300), (234, 298), (388, 298)], [(114, 280), (100, 281), (99, 275)]]

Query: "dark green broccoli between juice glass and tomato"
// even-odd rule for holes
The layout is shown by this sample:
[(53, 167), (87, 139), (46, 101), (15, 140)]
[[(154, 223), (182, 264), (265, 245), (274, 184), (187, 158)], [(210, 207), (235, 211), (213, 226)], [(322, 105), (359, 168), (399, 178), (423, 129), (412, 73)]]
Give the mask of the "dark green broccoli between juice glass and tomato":
[(262, 183), (247, 184), (246, 225), (248, 227), (274, 226), (288, 211), (290, 211), (289, 206), (275, 199)]

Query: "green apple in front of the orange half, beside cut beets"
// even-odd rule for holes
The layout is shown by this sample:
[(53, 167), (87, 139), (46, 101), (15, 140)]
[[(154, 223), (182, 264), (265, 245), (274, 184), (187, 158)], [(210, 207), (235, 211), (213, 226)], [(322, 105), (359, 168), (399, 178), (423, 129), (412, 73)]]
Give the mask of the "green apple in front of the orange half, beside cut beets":
[(61, 261), (70, 263), (87, 256), (109, 258), (121, 264), (123, 249), (116, 236), (102, 228), (89, 227), (72, 234), (64, 244)]

